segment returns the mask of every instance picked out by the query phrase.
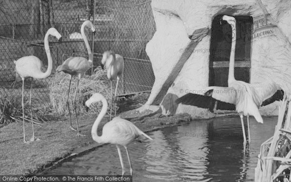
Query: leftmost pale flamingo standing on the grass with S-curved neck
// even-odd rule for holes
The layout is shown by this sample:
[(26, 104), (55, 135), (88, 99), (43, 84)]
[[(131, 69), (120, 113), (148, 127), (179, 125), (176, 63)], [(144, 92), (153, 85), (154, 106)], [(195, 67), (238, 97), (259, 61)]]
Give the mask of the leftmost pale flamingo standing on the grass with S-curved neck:
[[(23, 94), (24, 94), (24, 80), (25, 78), (31, 77), (32, 79), (45, 79), (49, 77), (52, 69), (52, 58), (50, 55), (50, 50), (49, 50), (49, 35), (55, 36), (59, 41), (62, 39), (62, 35), (55, 29), (55, 28), (50, 28), (48, 32), (45, 35), (45, 50), (47, 53), (48, 57), (48, 69), (46, 72), (42, 72), (42, 62), (39, 58), (36, 56), (25, 56), (19, 58), (17, 61), (14, 61), (15, 63), (15, 68), (16, 68), (16, 74), (20, 76), (22, 79), (22, 119), (23, 119), (23, 141), (25, 144), (28, 144), (30, 142), (35, 141), (35, 136), (34, 136), (34, 129), (33, 129), (33, 121), (32, 121), (32, 138), (30, 139), (30, 142), (27, 142), (25, 140), (25, 128), (24, 128), (24, 102), (23, 102)], [(31, 88), (30, 88), (30, 107), (32, 107), (32, 83), (31, 83)], [(32, 112), (32, 109), (31, 109)], [(39, 140), (38, 138), (36, 140)]]

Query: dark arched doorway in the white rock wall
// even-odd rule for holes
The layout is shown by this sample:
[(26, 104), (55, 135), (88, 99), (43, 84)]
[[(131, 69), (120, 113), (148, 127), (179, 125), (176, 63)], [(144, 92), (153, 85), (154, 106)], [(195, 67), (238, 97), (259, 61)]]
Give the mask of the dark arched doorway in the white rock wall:
[[(210, 39), (210, 86), (227, 86), (229, 56), (231, 49), (231, 26), (216, 16), (211, 25)], [(236, 18), (236, 48), (234, 77), (246, 83), (250, 81), (251, 67), (251, 31), (253, 18), (249, 16), (235, 16)]]

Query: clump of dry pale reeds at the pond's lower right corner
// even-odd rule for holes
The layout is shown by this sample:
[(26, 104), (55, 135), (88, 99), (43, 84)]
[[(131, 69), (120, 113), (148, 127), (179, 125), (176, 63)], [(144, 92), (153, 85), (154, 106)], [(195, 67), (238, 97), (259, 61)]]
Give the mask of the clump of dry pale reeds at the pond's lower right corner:
[(274, 135), (263, 142), (255, 169), (255, 182), (291, 181), (291, 98), (284, 96)]

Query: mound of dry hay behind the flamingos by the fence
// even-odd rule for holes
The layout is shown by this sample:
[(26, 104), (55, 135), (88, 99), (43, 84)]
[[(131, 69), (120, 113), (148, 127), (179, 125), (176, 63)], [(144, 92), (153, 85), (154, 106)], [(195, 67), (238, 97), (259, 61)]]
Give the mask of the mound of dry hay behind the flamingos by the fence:
[[(49, 98), (53, 106), (54, 112), (58, 114), (68, 115), (68, 108), (66, 105), (67, 91), (69, 87), (70, 76), (63, 72), (55, 74), (53, 81), (51, 82), (49, 89)], [(69, 93), (69, 105), (70, 112), (75, 114), (74, 107), (74, 94), (77, 85), (77, 78), (73, 77), (70, 93)], [(92, 94), (101, 93), (109, 103), (111, 103), (111, 91), (110, 86), (107, 81), (106, 71), (97, 67), (94, 73), (89, 75), (84, 75), (79, 83), (79, 90), (76, 96), (76, 108), (77, 112), (80, 114), (85, 114), (85, 102), (89, 99)], [(116, 106), (115, 106), (116, 107)], [(102, 103), (97, 102), (91, 106), (88, 112), (99, 113), (102, 108)], [(108, 110), (110, 107), (108, 107)], [(117, 110), (117, 107), (116, 107)]]

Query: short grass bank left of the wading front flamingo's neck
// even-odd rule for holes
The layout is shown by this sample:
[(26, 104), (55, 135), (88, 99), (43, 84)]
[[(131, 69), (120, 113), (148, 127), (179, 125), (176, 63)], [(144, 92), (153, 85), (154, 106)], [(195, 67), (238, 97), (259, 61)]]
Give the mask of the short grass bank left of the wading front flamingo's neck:
[[(73, 120), (73, 123), (75, 120)], [(81, 119), (82, 133), (90, 133), (93, 120)], [(35, 135), (40, 141), (23, 143), (22, 122), (15, 122), (0, 128), (0, 175), (28, 175), (58, 158), (64, 157), (74, 148), (92, 140), (90, 135), (77, 137), (69, 130), (68, 121), (47, 122), (49, 127), (34, 125)], [(32, 136), (30, 123), (25, 123), (26, 139)]]

